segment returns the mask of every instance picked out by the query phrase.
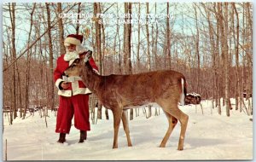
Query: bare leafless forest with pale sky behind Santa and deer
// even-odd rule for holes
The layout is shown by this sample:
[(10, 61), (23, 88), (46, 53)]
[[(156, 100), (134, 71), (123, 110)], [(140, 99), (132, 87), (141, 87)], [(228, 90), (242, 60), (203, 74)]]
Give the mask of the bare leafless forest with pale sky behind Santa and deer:
[(253, 115), (253, 103), (241, 108), (253, 93), (252, 3), (3, 3), (3, 108), (11, 120), (31, 107), (56, 110), (53, 71), (71, 33), (83, 34), (102, 75), (172, 69), (219, 114)]

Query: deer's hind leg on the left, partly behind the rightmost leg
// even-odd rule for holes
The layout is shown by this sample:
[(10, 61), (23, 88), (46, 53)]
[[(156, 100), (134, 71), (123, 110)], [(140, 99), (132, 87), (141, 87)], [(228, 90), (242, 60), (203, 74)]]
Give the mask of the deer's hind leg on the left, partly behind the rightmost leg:
[[(164, 113), (166, 113), (166, 112), (164, 111)], [(166, 136), (163, 138), (163, 140), (160, 144), (160, 148), (166, 147), (166, 142), (168, 141), (169, 137), (172, 134), (172, 130), (174, 129), (175, 125), (177, 124), (177, 119), (172, 117), (171, 114), (166, 113), (166, 118), (168, 119), (169, 127), (168, 127), (168, 130), (166, 131)]]

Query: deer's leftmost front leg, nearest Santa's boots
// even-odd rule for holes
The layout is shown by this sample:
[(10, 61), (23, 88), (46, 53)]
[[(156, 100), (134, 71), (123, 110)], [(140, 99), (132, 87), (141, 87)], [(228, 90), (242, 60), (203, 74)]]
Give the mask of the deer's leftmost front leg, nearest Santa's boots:
[(122, 117), (122, 108), (113, 111), (113, 148), (118, 148), (119, 125)]

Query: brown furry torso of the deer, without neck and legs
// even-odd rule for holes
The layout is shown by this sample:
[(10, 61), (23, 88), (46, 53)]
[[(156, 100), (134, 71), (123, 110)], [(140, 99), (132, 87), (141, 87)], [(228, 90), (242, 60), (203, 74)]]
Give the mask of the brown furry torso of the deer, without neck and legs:
[(182, 73), (171, 70), (104, 76), (100, 86), (102, 96), (99, 98), (102, 98), (102, 102), (111, 103), (112, 106), (109, 107), (113, 107), (114, 104), (143, 105), (154, 102), (159, 97), (181, 93), (181, 78)]

